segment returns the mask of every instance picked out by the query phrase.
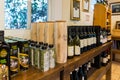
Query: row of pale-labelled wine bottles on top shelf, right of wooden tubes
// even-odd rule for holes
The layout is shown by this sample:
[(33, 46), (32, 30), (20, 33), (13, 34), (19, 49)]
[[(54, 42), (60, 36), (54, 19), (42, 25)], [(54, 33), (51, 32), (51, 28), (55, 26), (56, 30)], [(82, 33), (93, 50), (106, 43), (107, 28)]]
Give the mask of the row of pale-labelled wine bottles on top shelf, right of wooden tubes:
[(68, 58), (108, 42), (107, 30), (100, 26), (68, 26)]

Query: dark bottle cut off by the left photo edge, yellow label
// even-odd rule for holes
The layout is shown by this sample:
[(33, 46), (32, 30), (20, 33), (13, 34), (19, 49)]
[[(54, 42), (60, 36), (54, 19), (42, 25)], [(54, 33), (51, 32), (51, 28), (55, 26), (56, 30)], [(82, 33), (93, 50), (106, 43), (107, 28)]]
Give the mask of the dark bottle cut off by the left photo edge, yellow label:
[(0, 31), (0, 80), (10, 80), (10, 48), (4, 42), (4, 31)]

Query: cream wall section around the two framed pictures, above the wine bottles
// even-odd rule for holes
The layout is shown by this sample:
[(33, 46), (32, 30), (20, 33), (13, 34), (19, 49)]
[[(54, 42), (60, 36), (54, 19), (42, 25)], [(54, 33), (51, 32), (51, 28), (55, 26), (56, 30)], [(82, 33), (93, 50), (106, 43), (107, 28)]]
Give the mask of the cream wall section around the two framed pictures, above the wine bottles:
[[(92, 0), (90, 0), (90, 2), (91, 1)], [(89, 12), (83, 12), (82, 0), (80, 0), (80, 21), (70, 20), (70, 0), (63, 0), (62, 7), (63, 7), (62, 18), (63, 20), (67, 20), (68, 25), (92, 25), (93, 24), (93, 10), (91, 9), (91, 5), (89, 7)], [(86, 21), (86, 15), (89, 16), (89, 21)]]

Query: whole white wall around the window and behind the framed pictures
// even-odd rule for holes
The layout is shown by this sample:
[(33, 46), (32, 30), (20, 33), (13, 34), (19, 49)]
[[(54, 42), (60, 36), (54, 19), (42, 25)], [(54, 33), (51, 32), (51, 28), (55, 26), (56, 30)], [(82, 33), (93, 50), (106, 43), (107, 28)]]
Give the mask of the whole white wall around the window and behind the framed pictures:
[[(90, 0), (91, 1), (91, 0)], [(28, 0), (30, 5), (30, 0)], [(92, 25), (93, 24), (93, 10), (88, 12), (82, 11), (82, 0), (80, 0), (80, 21), (71, 21), (70, 20), (70, 0), (49, 0), (49, 19), (48, 20), (66, 20), (68, 25)], [(31, 10), (29, 9), (29, 12)], [(30, 14), (28, 14), (30, 15)], [(89, 16), (89, 21), (86, 21), (86, 15)], [(4, 0), (0, 0), (0, 30), (4, 29)], [(28, 20), (30, 18), (28, 17)], [(30, 27), (30, 22), (28, 23)], [(30, 29), (21, 30), (5, 30), (5, 36), (15, 36), (25, 39), (30, 39)]]

